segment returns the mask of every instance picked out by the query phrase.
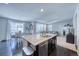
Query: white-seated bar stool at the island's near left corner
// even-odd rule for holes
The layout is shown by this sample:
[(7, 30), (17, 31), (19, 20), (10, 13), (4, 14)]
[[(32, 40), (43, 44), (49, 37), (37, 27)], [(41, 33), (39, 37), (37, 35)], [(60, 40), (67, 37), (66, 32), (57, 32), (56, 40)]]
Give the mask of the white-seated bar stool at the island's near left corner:
[(23, 47), (22, 49), (22, 55), (23, 56), (33, 56), (34, 54), (34, 49), (30, 46), (28, 47)]

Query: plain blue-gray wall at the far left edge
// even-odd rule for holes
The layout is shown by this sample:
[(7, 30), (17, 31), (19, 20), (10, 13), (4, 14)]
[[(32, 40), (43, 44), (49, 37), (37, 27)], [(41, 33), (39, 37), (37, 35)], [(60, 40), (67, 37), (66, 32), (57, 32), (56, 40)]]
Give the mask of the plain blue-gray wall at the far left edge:
[(7, 20), (0, 18), (0, 41), (6, 39)]

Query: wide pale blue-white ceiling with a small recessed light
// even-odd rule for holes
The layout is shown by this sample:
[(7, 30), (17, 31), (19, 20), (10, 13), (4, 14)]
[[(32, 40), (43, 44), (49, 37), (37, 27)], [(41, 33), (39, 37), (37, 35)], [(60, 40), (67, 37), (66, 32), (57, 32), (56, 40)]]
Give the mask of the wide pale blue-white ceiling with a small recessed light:
[[(44, 11), (41, 12), (40, 10)], [(0, 4), (0, 16), (20, 20), (54, 23), (72, 19), (76, 4), (68, 3), (9, 3)]]

